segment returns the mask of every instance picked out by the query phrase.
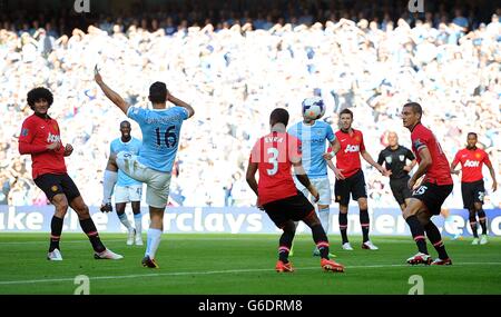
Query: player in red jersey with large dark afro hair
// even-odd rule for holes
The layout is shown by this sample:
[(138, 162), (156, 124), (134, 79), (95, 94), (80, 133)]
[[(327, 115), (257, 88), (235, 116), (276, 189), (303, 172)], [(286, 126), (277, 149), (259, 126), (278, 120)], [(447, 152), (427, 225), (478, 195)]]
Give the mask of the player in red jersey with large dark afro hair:
[(89, 237), (96, 259), (122, 258), (102, 245), (92, 218), (90, 218), (89, 208), (67, 174), (65, 157), (70, 156), (73, 148), (71, 145), (62, 147), (59, 125), (47, 113), (53, 101), (52, 92), (46, 88), (35, 88), (28, 92), (27, 100), (35, 113), (22, 122), (19, 152), (31, 155), (35, 184), (43, 190), (56, 207), (50, 222), (50, 246), (47, 259), (62, 260), (59, 240), (68, 206), (78, 214), (80, 226)]

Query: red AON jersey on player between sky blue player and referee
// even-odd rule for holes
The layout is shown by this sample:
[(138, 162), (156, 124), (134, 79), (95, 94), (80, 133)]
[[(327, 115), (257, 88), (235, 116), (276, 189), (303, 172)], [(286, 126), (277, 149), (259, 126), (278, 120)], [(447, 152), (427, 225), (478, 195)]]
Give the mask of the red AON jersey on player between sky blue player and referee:
[(336, 153), (336, 167), (342, 169), (344, 177), (355, 175), (362, 169), (360, 152), (365, 150), (364, 136), (361, 131), (352, 129), (353, 133), (345, 133), (341, 130), (336, 132), (341, 149)]

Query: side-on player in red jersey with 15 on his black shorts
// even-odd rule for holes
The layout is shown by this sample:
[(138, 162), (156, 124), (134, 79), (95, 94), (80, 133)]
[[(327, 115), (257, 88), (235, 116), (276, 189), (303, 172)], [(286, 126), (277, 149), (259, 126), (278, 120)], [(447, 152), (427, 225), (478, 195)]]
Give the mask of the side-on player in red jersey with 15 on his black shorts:
[[(402, 110), (403, 126), (411, 131), (412, 151), (419, 168), (409, 180), (409, 188), (414, 186), (422, 176), (421, 185), (413, 191), (403, 217), (411, 228), (419, 252), (409, 258), (411, 265), (452, 265), (439, 228), (431, 217), (439, 215), (445, 198), (452, 192), (452, 177), (449, 161), (433, 132), (421, 123), (423, 110), (418, 102), (405, 103)], [(424, 232), (439, 252), (439, 258), (432, 260), (428, 254)]]

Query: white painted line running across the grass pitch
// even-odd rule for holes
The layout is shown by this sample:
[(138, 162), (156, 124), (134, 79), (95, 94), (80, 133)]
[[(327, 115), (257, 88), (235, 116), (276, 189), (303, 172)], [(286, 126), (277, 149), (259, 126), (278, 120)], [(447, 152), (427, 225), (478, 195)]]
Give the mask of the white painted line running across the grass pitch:
[[(454, 266), (469, 266), (469, 265), (501, 265), (501, 262), (460, 262)], [(387, 267), (411, 267), (409, 265), (370, 265), (370, 266), (347, 266), (346, 270), (356, 268), (387, 268)], [(320, 269), (320, 267), (296, 267), (297, 270)], [(229, 269), (229, 270), (208, 270), (208, 271), (171, 271), (171, 273), (157, 273), (157, 274), (136, 274), (136, 275), (121, 275), (121, 276), (97, 276), (89, 277), (90, 280), (101, 279), (126, 279), (126, 278), (145, 278), (145, 277), (158, 277), (158, 276), (185, 276), (185, 275), (215, 275), (215, 274), (237, 274), (237, 273), (259, 273), (259, 271), (275, 271), (271, 268), (256, 268), (256, 269)], [(51, 279), (29, 279), (29, 280), (6, 280), (0, 281), (0, 285), (19, 285), (19, 284), (36, 284), (36, 283), (57, 283), (57, 281), (73, 281), (75, 277), (67, 278), (51, 278)]]

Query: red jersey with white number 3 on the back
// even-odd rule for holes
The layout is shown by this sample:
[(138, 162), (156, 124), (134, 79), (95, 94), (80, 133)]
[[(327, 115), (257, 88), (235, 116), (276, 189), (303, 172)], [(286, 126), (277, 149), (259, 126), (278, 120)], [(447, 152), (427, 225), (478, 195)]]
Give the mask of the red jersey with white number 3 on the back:
[(291, 175), (294, 161), (301, 159), (301, 141), (286, 132), (271, 132), (257, 140), (250, 152), (250, 162), (257, 162), (259, 204), (297, 195)]

